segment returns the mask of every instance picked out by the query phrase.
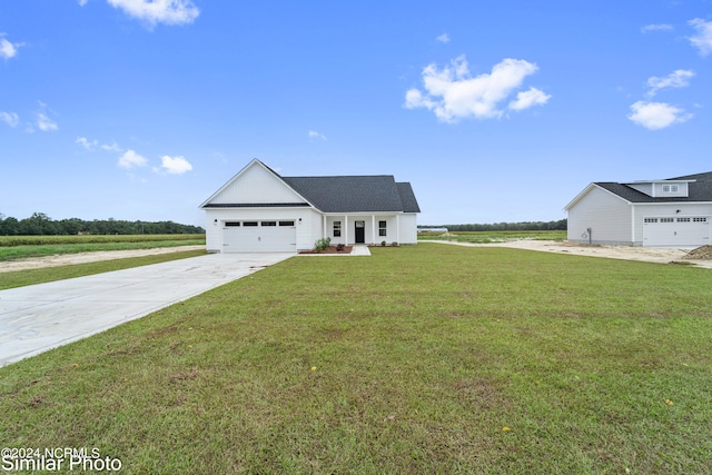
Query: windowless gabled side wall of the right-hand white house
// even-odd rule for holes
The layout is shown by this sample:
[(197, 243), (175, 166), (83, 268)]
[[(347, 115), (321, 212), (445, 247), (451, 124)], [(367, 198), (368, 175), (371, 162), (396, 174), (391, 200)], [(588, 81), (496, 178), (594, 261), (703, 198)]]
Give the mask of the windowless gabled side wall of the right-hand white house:
[(567, 238), (573, 243), (633, 245), (631, 205), (596, 186), (568, 209)]

